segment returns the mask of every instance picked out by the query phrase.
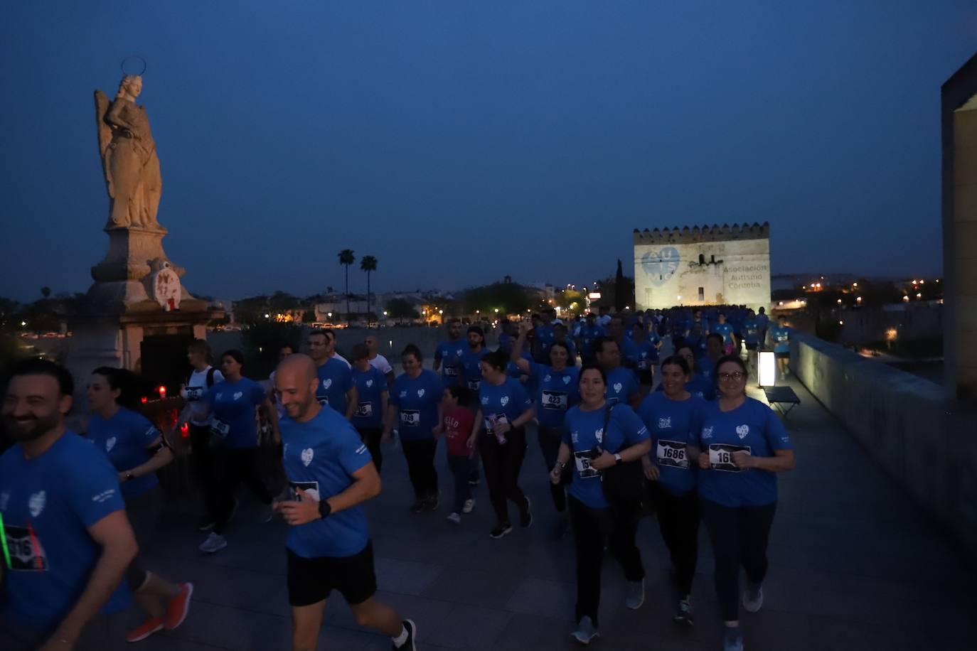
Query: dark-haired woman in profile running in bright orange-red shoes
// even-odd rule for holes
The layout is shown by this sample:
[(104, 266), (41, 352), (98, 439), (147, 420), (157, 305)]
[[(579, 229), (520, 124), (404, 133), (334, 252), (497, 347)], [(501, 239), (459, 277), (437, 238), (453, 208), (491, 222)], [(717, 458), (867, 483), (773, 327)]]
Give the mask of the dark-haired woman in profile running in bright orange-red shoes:
[(162, 432), (145, 416), (129, 409), (136, 377), (128, 371), (103, 366), (92, 373), (88, 384), (88, 438), (106, 453), (118, 472), (125, 500), (126, 516), (132, 524), (139, 555), (129, 565), (126, 580), (136, 602), (149, 617), (130, 631), (126, 641), (138, 642), (156, 631), (172, 631), (190, 610), (193, 585), (174, 584), (144, 569), (142, 560), (155, 538), (163, 510), (163, 492), (156, 470), (173, 461)]

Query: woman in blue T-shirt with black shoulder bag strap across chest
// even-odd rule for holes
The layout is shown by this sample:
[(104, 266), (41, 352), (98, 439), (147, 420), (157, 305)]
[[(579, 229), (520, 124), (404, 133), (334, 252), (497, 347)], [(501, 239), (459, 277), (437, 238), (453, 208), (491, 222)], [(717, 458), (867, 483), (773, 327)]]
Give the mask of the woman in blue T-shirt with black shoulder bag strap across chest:
[(598, 366), (580, 370), (580, 404), (567, 412), (563, 441), (550, 481), (561, 481), (573, 468), (567, 493), (576, 547), (576, 631), (573, 637), (589, 644), (598, 632), (601, 598), (601, 562), (605, 543), (624, 569), (627, 590), (624, 604), (638, 609), (645, 600), (645, 568), (635, 545), (638, 520), (612, 508), (604, 495), (602, 472), (648, 455), (648, 428), (626, 404), (606, 398), (607, 373)]

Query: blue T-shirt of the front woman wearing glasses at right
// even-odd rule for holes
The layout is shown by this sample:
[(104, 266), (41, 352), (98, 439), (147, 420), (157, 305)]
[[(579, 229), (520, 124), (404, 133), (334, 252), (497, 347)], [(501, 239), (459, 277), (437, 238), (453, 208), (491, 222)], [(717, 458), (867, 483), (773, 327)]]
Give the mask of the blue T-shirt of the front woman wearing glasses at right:
[(776, 450), (793, 447), (773, 409), (753, 398), (729, 412), (721, 411), (718, 402), (707, 402), (697, 439), (710, 464), (699, 473), (701, 497), (724, 507), (761, 507), (777, 501), (776, 472), (741, 469), (732, 461), (734, 452), (773, 457)]

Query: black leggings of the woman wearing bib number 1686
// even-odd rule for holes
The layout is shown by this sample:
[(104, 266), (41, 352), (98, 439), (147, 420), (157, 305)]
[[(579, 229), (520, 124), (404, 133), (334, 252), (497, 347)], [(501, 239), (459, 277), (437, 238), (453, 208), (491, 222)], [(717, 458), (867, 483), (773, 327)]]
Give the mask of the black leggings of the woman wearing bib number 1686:
[(678, 598), (684, 599), (692, 592), (699, 556), (699, 496), (695, 489), (672, 495), (658, 481), (648, 486), (655, 494), (661, 539), (671, 556), (672, 586)]

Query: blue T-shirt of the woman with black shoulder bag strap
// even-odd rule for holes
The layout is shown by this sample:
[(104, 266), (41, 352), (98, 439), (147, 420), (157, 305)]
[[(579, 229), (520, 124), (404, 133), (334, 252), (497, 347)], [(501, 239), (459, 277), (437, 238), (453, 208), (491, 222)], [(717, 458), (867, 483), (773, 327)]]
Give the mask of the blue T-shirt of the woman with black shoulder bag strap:
[(602, 450), (617, 453), (648, 438), (648, 428), (627, 405), (614, 406), (608, 431), (604, 431), (605, 407), (583, 411), (578, 405), (567, 412), (564, 423), (563, 442), (573, 452), (570, 463), (574, 476), (568, 492), (591, 509), (607, 509), (611, 505), (604, 497), (601, 471), (591, 468), (590, 461), (599, 457)]

